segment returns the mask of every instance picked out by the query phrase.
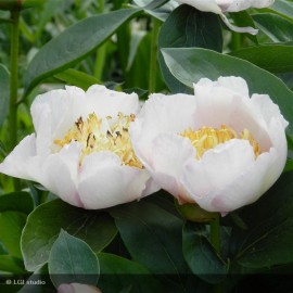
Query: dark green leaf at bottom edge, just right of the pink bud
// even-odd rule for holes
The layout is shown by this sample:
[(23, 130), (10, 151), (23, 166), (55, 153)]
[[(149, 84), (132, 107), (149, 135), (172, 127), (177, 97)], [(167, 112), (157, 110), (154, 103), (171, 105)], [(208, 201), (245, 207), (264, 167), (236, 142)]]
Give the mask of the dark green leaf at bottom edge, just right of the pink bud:
[(164, 292), (162, 285), (141, 264), (107, 253), (99, 253), (98, 258), (101, 268), (98, 286), (102, 292), (120, 292), (128, 288), (130, 291), (127, 292)]

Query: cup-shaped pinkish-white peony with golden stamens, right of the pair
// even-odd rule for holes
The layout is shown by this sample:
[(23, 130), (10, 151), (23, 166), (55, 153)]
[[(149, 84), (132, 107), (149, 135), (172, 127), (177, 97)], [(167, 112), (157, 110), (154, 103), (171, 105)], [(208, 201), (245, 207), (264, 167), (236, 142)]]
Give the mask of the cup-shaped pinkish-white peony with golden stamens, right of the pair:
[(152, 94), (130, 127), (133, 149), (179, 203), (222, 215), (255, 202), (286, 161), (286, 120), (240, 77), (203, 78), (195, 97)]

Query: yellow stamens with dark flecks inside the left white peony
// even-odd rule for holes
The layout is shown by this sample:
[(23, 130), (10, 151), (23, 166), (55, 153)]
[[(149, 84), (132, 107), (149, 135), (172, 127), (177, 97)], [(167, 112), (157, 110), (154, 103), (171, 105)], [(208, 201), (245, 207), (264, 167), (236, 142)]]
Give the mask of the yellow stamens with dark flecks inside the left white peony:
[(54, 144), (63, 148), (71, 141), (80, 142), (82, 149), (79, 165), (86, 155), (110, 151), (120, 157), (123, 165), (142, 169), (143, 165), (133, 152), (128, 132), (129, 125), (135, 118), (135, 114), (127, 116), (118, 113), (115, 120), (111, 116), (99, 119), (95, 113), (92, 113), (85, 122), (79, 117), (63, 139), (54, 140)]

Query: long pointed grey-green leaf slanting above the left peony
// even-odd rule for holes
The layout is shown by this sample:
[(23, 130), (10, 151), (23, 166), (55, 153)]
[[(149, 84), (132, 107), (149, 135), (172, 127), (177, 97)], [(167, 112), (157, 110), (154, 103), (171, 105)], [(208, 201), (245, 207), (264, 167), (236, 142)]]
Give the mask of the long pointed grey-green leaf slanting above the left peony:
[(71, 67), (102, 44), (141, 9), (117, 10), (87, 17), (49, 41), (28, 65), (26, 92), (48, 76)]

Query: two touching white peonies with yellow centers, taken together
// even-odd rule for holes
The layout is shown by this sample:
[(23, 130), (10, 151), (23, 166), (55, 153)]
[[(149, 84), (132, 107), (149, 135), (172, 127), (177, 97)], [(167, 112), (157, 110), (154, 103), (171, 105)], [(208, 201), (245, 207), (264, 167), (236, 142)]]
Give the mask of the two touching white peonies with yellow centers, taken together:
[(288, 123), (267, 94), (240, 77), (201, 79), (194, 95), (136, 93), (91, 86), (38, 95), (36, 133), (0, 173), (40, 182), (65, 202), (95, 209), (160, 188), (179, 203), (229, 213), (253, 203), (286, 161)]

